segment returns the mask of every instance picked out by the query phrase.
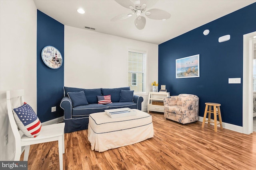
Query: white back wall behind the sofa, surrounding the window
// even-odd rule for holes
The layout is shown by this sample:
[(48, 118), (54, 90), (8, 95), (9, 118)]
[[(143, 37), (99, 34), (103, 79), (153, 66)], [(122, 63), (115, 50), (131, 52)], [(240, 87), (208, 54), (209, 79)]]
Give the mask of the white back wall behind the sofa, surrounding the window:
[(128, 86), (127, 49), (147, 52), (147, 92), (142, 109), (147, 109), (151, 83), (158, 81), (158, 45), (64, 27), (64, 86), (117, 88)]

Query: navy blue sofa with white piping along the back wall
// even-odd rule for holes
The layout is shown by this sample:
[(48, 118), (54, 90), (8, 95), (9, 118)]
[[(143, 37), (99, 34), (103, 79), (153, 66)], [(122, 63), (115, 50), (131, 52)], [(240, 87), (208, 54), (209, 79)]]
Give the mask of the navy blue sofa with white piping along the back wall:
[[(88, 129), (90, 113), (103, 112), (106, 109), (118, 109), (129, 107), (131, 109), (141, 110), (143, 98), (133, 95), (132, 102), (119, 102), (121, 90), (130, 90), (130, 87), (123, 88), (96, 88), (82, 89), (64, 87), (64, 97), (60, 102), (60, 107), (64, 109), (65, 133)], [(72, 106), (72, 101), (68, 97), (68, 92), (84, 92), (88, 105)], [(111, 95), (110, 104), (98, 104), (97, 96)]]

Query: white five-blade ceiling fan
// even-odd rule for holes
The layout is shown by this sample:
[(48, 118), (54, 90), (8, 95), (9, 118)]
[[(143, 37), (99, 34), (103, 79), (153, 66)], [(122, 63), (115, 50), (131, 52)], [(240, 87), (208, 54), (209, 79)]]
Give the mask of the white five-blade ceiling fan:
[(138, 29), (143, 29), (146, 25), (146, 18), (142, 16), (145, 14), (148, 18), (154, 20), (167, 20), (171, 17), (171, 14), (160, 9), (151, 9), (146, 11), (146, 8), (152, 7), (156, 4), (157, 0), (115, 0), (118, 4), (125, 8), (132, 10), (130, 14), (121, 14), (111, 19), (111, 21), (118, 21), (127, 19), (136, 14), (134, 24)]

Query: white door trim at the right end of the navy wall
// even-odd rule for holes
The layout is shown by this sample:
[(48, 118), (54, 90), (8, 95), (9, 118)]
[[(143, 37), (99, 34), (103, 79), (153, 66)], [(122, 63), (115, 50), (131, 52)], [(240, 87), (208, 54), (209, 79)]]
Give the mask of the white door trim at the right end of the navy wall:
[(256, 31), (244, 34), (243, 49), (243, 133), (253, 132), (253, 91), (252, 91), (252, 68), (253, 68), (253, 39)]

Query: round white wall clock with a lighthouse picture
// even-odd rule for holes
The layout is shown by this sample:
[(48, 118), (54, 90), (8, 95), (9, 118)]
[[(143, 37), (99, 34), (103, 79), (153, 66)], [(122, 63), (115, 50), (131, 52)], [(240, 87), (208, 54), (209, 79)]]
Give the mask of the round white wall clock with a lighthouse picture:
[(58, 49), (52, 46), (45, 46), (41, 53), (42, 60), (46, 66), (57, 69), (62, 65), (62, 55)]

